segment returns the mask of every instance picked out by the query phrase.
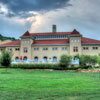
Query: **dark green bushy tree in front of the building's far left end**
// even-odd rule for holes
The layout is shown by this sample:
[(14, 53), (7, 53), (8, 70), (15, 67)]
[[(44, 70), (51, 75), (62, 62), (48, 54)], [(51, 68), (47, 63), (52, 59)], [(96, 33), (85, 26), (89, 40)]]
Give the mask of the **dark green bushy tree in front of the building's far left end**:
[(11, 58), (12, 53), (8, 51), (2, 51), (1, 57), (0, 57), (0, 64), (2, 66), (8, 67), (11, 65)]

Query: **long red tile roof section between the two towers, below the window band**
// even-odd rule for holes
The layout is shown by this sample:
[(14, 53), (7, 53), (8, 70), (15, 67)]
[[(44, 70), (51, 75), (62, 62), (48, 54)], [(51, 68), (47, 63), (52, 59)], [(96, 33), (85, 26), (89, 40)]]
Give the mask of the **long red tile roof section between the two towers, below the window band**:
[(57, 39), (57, 40), (35, 40), (33, 45), (58, 45), (69, 44), (69, 39)]

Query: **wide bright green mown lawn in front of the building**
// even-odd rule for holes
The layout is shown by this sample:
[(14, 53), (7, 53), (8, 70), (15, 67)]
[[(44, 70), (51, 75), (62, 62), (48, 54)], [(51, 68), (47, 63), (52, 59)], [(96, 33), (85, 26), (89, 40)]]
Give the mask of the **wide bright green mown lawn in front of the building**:
[(0, 69), (0, 100), (100, 100), (100, 73)]

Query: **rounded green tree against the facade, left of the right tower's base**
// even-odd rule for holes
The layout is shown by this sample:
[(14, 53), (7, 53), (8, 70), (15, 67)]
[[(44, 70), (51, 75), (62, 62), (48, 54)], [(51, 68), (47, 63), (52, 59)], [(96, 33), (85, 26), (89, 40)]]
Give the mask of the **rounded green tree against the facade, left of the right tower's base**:
[(68, 67), (71, 64), (72, 57), (68, 55), (62, 55), (60, 57), (60, 66), (61, 67)]

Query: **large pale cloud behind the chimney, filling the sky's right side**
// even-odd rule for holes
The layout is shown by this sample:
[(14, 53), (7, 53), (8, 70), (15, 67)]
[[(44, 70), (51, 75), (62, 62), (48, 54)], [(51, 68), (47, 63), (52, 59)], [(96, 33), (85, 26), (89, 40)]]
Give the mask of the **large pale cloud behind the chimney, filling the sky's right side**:
[[(85, 36), (95, 37), (100, 26), (100, 0), (70, 0), (72, 6), (38, 13), (30, 32), (51, 31), (51, 25), (57, 24), (58, 31), (72, 31), (77, 28)], [(31, 19), (31, 18), (30, 18)], [(87, 34), (88, 33), (88, 34)]]

